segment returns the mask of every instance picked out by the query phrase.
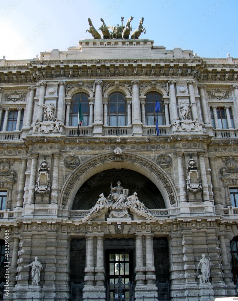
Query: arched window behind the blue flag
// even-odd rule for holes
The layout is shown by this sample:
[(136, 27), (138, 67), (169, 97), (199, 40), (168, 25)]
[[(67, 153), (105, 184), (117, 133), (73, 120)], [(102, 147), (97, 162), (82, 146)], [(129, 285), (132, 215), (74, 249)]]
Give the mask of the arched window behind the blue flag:
[[(162, 126), (165, 124), (165, 113), (164, 113), (164, 105), (162, 104), (162, 95), (158, 92), (152, 91), (146, 93), (146, 124), (147, 126), (155, 126), (156, 125), (156, 116), (158, 116), (158, 125)], [(155, 112), (155, 103), (158, 100), (160, 109), (159, 112)]]

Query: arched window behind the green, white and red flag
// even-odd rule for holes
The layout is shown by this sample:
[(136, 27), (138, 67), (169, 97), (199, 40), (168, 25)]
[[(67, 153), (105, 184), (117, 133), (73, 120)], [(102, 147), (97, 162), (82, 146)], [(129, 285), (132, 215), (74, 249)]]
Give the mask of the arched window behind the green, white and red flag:
[(85, 93), (77, 93), (72, 98), (72, 106), (69, 114), (69, 126), (78, 126), (79, 103), (83, 113), (83, 121), (81, 126), (89, 125), (89, 98)]

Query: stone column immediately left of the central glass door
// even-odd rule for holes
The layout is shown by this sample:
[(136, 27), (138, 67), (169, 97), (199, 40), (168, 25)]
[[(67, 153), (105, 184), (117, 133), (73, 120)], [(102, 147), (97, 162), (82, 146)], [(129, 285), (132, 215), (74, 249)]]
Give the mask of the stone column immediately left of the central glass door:
[(103, 256), (103, 237), (104, 235), (97, 235), (97, 262), (95, 267), (96, 285), (104, 286), (104, 256)]

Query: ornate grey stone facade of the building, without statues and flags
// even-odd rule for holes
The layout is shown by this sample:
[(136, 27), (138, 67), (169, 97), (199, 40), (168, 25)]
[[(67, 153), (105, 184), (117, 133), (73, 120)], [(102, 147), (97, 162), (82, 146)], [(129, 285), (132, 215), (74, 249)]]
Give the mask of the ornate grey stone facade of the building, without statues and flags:
[[(157, 296), (155, 280), (170, 281), (172, 300), (235, 296), (237, 64), (146, 39), (84, 40), (39, 59), (0, 60), (0, 238), (4, 245), (8, 229), (10, 298), (70, 299), (71, 281), (84, 281), (84, 299), (105, 299), (106, 280), (119, 275), (109, 267), (115, 252), (129, 254), (122, 275), (133, 277), (138, 300)], [(89, 214), (117, 181), (149, 215), (132, 207), (122, 217), (119, 209)], [(207, 283), (198, 278), (202, 254)], [(39, 286), (24, 268), (35, 256)]]

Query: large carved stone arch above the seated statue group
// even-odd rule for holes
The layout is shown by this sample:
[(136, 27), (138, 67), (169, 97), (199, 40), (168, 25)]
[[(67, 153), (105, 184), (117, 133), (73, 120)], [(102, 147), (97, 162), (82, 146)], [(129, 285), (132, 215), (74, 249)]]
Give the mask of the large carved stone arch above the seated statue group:
[(111, 168), (125, 168), (140, 172), (149, 178), (161, 192), (166, 208), (177, 207), (176, 189), (167, 172), (153, 161), (137, 154), (124, 151), (120, 161), (115, 160), (114, 153), (100, 154), (90, 158), (68, 176), (62, 188), (60, 207), (70, 209), (79, 188), (98, 172)]

